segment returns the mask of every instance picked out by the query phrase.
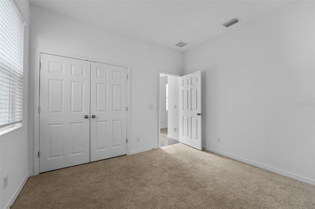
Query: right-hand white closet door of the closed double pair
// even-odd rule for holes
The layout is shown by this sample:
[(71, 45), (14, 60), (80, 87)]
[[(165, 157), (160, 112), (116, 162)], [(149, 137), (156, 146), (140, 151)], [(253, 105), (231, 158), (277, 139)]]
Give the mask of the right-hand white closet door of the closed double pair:
[(125, 67), (91, 62), (91, 162), (127, 153), (126, 76)]

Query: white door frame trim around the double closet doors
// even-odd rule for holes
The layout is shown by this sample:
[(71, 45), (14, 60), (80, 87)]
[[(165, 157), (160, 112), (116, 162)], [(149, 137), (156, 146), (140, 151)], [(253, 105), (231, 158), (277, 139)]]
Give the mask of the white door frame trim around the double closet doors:
[[(80, 55), (75, 55), (75, 54), (69, 54), (69, 53), (64, 53), (64, 52), (56, 52), (56, 51), (51, 51), (51, 50), (43, 50), (43, 49), (35, 49), (35, 56), (34, 56), (34, 106), (33, 106), (33, 119), (34, 119), (34, 129), (33, 129), (33, 134), (34, 134), (34, 172), (33, 175), (38, 175), (39, 174), (39, 157), (38, 157), (38, 152), (39, 152), (39, 113), (38, 113), (38, 107), (39, 107), (39, 84), (40, 84), (40, 75), (39, 75), (39, 61), (40, 61), (40, 54), (41, 53), (47, 53), (51, 55), (57, 55), (57, 56), (64, 56), (64, 57), (69, 57), (69, 58), (74, 58), (74, 59), (82, 59), (86, 61), (92, 61), (92, 62), (100, 62), (104, 64), (109, 64), (109, 65), (116, 65), (116, 66), (121, 66), (121, 67), (126, 67), (127, 68), (127, 138), (129, 139), (128, 141), (130, 142), (130, 68), (131, 66), (128, 64), (124, 63), (118, 63), (118, 62), (112, 62), (104, 59), (98, 59), (98, 58), (91, 58), (88, 56), (80, 56)], [(130, 143), (127, 143), (127, 155), (130, 154)]]

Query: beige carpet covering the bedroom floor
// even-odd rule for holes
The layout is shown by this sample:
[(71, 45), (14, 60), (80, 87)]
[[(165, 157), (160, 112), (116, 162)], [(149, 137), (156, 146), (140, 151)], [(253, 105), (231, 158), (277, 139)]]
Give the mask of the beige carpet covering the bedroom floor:
[(315, 186), (184, 144), (31, 177), (12, 209), (314, 209)]

